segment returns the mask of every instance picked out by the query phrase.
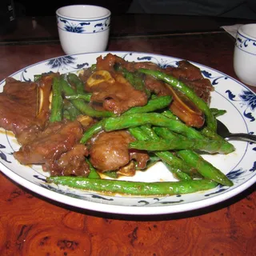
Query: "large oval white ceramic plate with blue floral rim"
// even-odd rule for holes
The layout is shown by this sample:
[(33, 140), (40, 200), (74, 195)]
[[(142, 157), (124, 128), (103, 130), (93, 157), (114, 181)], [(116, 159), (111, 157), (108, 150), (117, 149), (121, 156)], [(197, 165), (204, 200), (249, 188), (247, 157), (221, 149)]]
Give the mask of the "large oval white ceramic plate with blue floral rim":
[[(19, 70), (11, 76), (18, 80), (30, 81), (34, 79), (34, 74), (49, 71), (75, 72), (94, 64), (99, 55), (106, 54), (107, 52), (51, 58)], [(158, 63), (160, 66), (175, 66), (176, 62), (180, 60), (146, 53), (113, 52), (113, 54), (117, 54), (127, 61), (150, 61)], [(194, 63), (194, 65), (198, 66), (202, 70), (202, 74), (209, 78), (214, 85), (215, 91), (212, 93), (210, 106), (227, 110), (227, 113), (220, 119), (229, 127), (230, 131), (255, 133), (256, 95), (241, 82), (226, 74), (198, 63)], [(4, 83), (4, 81), (0, 83), (1, 90)], [(170, 214), (214, 205), (241, 193), (254, 184), (256, 181), (256, 144), (232, 143), (236, 148), (234, 153), (214, 156), (206, 154), (203, 157), (222, 170), (234, 182), (234, 186), (218, 186), (204, 192), (168, 197), (107, 196), (48, 184), (45, 182), (48, 175), (42, 171), (41, 166), (22, 166), (14, 159), (12, 153), (14, 150), (18, 150), (19, 146), (14, 136), (5, 130), (0, 133), (0, 169), (27, 189), (70, 206), (116, 214)], [(138, 172), (133, 178), (126, 179), (147, 182), (175, 180), (162, 162), (158, 162), (146, 172)]]

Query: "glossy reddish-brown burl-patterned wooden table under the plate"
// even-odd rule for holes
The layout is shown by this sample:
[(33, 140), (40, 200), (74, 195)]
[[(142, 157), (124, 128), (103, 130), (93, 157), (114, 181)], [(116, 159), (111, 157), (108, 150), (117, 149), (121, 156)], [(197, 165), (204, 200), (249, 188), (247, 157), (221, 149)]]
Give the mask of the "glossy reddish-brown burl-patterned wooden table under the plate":
[[(49, 30), (46, 30), (50, 31)], [(108, 50), (170, 55), (236, 78), (234, 38), (222, 30), (112, 36)], [(45, 35), (45, 34), (44, 34)], [(0, 42), (0, 80), (63, 55), (56, 34)], [(1, 38), (0, 38), (1, 39)], [(12, 41), (13, 40), (13, 41)], [(254, 87), (252, 90), (256, 91)], [(0, 173), (0, 255), (256, 255), (256, 193), (182, 214), (101, 214), (50, 201)]]

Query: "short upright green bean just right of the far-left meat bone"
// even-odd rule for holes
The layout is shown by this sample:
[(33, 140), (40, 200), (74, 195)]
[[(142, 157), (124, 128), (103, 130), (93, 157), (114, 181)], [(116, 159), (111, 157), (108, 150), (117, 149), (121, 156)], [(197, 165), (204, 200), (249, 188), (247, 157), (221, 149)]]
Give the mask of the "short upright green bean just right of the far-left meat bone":
[(62, 121), (63, 115), (63, 99), (62, 99), (62, 84), (59, 77), (53, 78), (52, 85), (53, 98), (51, 102), (50, 122)]

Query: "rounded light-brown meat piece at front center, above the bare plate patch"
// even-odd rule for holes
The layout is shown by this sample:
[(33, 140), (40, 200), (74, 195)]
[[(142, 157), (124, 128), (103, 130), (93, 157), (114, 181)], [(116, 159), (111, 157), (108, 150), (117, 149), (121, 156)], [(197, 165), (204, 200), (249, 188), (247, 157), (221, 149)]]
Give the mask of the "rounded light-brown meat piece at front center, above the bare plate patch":
[(133, 141), (125, 130), (102, 132), (90, 146), (90, 162), (98, 170), (118, 170), (130, 161), (128, 144)]

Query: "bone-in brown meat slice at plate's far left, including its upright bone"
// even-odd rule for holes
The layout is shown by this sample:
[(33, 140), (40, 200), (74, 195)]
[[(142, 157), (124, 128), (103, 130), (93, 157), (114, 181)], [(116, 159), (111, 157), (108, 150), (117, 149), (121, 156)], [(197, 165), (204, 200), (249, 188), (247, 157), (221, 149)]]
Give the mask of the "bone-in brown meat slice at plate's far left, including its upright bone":
[(39, 84), (6, 78), (0, 94), (0, 126), (11, 130), (25, 144), (42, 131), (49, 118), (52, 78), (45, 75)]

